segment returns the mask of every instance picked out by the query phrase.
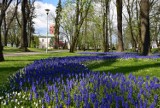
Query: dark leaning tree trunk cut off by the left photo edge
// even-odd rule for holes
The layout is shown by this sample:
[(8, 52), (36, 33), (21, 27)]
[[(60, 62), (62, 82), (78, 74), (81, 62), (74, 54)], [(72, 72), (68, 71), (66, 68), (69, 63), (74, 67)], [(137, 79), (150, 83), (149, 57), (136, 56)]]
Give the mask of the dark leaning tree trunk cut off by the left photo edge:
[(11, 2), (12, 0), (2, 0), (2, 3), (0, 4), (0, 61), (4, 61), (3, 45), (2, 45), (2, 37), (1, 37), (2, 21), (5, 17), (5, 12), (10, 6)]

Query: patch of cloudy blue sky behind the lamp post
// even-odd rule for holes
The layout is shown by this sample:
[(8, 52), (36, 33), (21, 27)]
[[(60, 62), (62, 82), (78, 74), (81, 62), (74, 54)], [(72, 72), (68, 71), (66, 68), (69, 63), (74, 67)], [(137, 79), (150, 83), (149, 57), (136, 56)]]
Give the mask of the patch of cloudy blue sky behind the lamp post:
[(45, 9), (50, 9), (48, 14), (48, 29), (49, 25), (54, 22), (55, 10), (58, 4), (58, 0), (38, 0), (35, 2), (36, 18), (33, 19), (35, 34), (46, 35), (47, 34), (47, 14)]

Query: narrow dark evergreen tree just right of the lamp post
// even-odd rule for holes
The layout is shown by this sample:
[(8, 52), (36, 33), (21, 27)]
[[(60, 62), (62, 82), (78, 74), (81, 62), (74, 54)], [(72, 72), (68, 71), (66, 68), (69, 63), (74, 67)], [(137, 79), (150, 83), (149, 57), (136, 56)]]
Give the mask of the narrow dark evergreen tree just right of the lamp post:
[(60, 20), (61, 20), (61, 11), (62, 11), (62, 5), (61, 5), (61, 0), (58, 2), (58, 6), (56, 9), (56, 18), (55, 18), (55, 41), (58, 43), (59, 47), (59, 34), (60, 34)]

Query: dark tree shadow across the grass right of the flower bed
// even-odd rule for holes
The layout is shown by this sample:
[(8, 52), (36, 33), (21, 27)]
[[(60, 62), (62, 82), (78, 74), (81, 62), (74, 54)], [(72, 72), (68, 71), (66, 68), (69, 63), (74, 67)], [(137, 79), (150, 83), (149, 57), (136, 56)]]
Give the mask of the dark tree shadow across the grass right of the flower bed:
[[(90, 70), (99, 71), (98, 69), (100, 69), (99, 72), (111, 72), (113, 74), (116, 74), (116, 73), (129, 74), (129, 73), (136, 72), (139, 70), (144, 70), (147, 68), (155, 68), (155, 69), (160, 68), (160, 63), (142, 64), (142, 65), (132, 65), (131, 64), (131, 65), (123, 66), (123, 62), (122, 62), (122, 64), (120, 64), (118, 66), (112, 66), (112, 64), (114, 62), (116, 62), (116, 60), (114, 60), (114, 61), (107, 60), (107, 61), (103, 61), (103, 62), (99, 62), (99, 63), (89, 64), (87, 67)], [(107, 66), (111, 66), (112, 68), (105, 68)]]

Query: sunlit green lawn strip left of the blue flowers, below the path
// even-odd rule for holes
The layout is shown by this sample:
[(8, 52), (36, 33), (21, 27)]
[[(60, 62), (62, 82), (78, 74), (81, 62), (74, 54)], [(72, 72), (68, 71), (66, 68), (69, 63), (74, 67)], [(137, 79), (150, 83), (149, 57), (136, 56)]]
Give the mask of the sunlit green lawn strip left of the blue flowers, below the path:
[(2, 86), (7, 78), (16, 73), (19, 69), (33, 63), (35, 60), (45, 59), (49, 57), (76, 56), (79, 54), (68, 52), (52, 52), (48, 54), (24, 55), (5, 57), (4, 62), (0, 62), (0, 86)]

